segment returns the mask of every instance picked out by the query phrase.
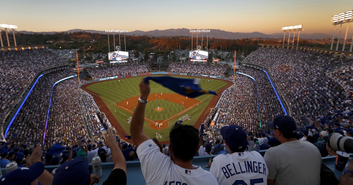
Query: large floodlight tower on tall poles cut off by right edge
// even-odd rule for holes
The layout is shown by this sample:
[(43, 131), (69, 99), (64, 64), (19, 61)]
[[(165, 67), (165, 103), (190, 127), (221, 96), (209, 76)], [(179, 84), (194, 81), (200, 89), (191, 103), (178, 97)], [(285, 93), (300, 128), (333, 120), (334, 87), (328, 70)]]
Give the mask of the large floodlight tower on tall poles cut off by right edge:
[[(333, 47), (333, 41), (335, 39), (336, 25), (340, 24), (340, 31), (339, 31), (339, 34), (338, 34), (338, 40), (337, 40), (337, 45), (336, 45), (336, 51), (337, 51), (338, 50), (338, 46), (340, 44), (340, 36), (341, 36), (342, 24), (347, 23), (346, 36), (345, 36), (345, 41), (343, 42), (343, 48), (342, 48), (342, 51), (345, 51), (346, 39), (347, 39), (347, 33), (348, 33), (348, 26), (349, 26), (350, 22), (353, 22), (353, 10), (350, 10), (350, 11), (347, 11), (347, 12), (343, 12), (343, 13), (339, 13), (339, 14), (336, 14), (336, 15), (331, 17), (331, 23), (333, 25), (335, 25), (335, 28), (334, 28), (334, 31), (333, 31), (333, 37), (332, 37), (332, 41), (331, 41), (331, 49)], [(353, 42), (351, 43), (351, 48), (349, 49), (350, 52), (352, 52), (352, 47), (353, 47)]]

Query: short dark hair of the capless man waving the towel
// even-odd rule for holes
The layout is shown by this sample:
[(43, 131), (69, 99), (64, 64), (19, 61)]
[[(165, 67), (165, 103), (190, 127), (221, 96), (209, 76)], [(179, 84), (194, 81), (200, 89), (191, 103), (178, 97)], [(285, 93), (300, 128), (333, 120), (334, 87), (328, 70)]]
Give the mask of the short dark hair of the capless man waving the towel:
[(169, 132), (170, 147), (175, 158), (187, 162), (192, 160), (199, 145), (198, 130), (190, 125), (176, 125)]

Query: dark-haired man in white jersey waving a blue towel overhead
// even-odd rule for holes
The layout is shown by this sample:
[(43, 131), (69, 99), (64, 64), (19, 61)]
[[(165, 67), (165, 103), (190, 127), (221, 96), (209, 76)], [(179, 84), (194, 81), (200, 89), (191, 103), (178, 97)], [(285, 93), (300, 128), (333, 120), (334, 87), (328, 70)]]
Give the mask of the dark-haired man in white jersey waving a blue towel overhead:
[(130, 134), (137, 147), (137, 155), (147, 185), (154, 184), (217, 184), (216, 178), (200, 166), (192, 165), (192, 159), (199, 149), (198, 130), (190, 125), (176, 124), (169, 133), (169, 154), (143, 133), (144, 115), (150, 87), (142, 79), (141, 97), (132, 115)]

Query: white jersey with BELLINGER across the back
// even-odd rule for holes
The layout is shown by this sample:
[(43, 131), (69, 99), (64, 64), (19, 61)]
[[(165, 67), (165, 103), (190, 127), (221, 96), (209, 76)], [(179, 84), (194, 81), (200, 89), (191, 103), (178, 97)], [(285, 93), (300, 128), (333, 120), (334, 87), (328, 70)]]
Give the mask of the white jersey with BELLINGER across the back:
[(267, 185), (267, 165), (261, 154), (255, 151), (218, 155), (213, 159), (210, 172), (220, 185)]

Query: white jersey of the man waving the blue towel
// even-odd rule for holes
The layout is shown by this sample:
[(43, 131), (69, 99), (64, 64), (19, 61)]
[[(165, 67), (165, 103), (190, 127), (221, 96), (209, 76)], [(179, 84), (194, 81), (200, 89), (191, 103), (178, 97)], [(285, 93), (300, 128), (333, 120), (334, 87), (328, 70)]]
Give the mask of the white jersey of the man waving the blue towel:
[(170, 157), (160, 152), (160, 149), (152, 140), (141, 143), (136, 152), (147, 185), (217, 184), (215, 177), (200, 166), (192, 165), (194, 169), (185, 169), (174, 164)]

